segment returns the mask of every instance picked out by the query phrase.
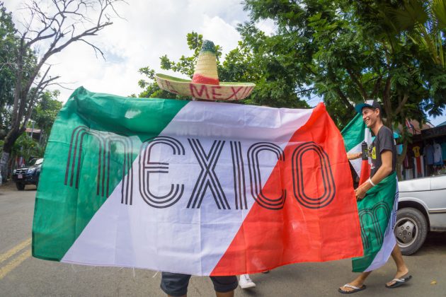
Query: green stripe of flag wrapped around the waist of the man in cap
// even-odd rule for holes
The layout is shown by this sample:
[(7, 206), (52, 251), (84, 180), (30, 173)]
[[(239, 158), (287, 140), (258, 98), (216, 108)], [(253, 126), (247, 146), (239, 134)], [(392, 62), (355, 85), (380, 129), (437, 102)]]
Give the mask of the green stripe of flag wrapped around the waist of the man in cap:
[(393, 173), (372, 187), (365, 198), (358, 202), (364, 256), (353, 259), (353, 272), (364, 272), (372, 264), (382, 248), (386, 231), (394, 236), (393, 229), (387, 230), (387, 226), (391, 219), (395, 194), (396, 173)]

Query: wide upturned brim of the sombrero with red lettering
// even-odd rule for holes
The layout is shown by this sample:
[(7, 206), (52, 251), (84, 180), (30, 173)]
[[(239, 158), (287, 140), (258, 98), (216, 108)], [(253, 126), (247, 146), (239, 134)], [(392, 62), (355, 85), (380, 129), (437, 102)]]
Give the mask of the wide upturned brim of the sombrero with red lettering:
[(242, 100), (253, 91), (254, 83), (220, 82), (219, 85), (193, 83), (188, 79), (155, 74), (158, 86), (163, 90), (204, 100)]

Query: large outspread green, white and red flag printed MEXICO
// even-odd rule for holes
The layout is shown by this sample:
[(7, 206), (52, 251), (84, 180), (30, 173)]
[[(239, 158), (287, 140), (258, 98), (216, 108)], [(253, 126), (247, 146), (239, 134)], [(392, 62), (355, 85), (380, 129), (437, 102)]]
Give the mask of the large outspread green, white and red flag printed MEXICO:
[(362, 255), (340, 132), (312, 110), (78, 88), (38, 187), (34, 257), (195, 275)]

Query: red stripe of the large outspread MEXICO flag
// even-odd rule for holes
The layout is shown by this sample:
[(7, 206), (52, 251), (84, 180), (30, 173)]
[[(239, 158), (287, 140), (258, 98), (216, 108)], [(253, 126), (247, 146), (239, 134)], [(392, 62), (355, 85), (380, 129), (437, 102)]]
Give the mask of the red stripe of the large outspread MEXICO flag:
[[(295, 150), (314, 141), (328, 154), (336, 193), (331, 202), (311, 209), (295, 198), (292, 155)], [(362, 255), (362, 240), (353, 181), (341, 133), (319, 104), (285, 148), (285, 161), (279, 161), (262, 193), (265, 197), (287, 196), (280, 210), (265, 209), (254, 203), (231, 245), (211, 275), (256, 273), (296, 262), (321, 262)], [(324, 197), (319, 154), (307, 150), (302, 157), (302, 184), (307, 197)]]

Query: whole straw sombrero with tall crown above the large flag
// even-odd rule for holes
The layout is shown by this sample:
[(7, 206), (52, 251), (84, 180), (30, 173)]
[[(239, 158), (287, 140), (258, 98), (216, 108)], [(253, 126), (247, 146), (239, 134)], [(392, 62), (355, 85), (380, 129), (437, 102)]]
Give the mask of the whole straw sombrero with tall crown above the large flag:
[(155, 74), (158, 86), (178, 95), (205, 100), (241, 100), (253, 91), (254, 83), (220, 83), (214, 42), (204, 40), (192, 81)]

